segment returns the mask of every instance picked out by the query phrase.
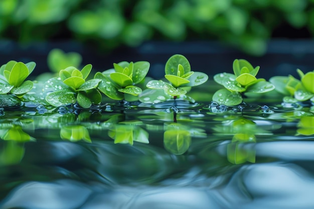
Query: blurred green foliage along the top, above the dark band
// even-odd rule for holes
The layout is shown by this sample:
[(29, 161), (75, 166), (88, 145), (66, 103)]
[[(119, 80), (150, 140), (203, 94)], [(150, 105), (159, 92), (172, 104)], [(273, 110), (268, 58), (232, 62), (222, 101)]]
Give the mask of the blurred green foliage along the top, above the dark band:
[(220, 40), (262, 55), (282, 24), (314, 34), (313, 0), (2, 0), (0, 38), (65, 34), (103, 49), (143, 41)]

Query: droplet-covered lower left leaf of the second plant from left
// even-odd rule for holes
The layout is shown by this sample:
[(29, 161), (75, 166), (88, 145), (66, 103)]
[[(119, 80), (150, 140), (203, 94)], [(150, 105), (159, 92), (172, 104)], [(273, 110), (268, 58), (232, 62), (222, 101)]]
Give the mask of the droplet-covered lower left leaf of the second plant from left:
[(46, 101), (52, 106), (59, 107), (61, 105), (76, 103), (76, 98), (73, 92), (56, 91), (47, 94)]

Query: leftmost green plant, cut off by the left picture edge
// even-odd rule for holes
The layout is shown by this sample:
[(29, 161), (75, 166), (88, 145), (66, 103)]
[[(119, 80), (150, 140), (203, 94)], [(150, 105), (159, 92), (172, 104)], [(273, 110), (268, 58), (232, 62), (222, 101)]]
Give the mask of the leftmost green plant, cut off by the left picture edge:
[(21, 98), (33, 88), (32, 81), (25, 79), (33, 72), (35, 62), (9, 61), (0, 68), (0, 94), (14, 94)]

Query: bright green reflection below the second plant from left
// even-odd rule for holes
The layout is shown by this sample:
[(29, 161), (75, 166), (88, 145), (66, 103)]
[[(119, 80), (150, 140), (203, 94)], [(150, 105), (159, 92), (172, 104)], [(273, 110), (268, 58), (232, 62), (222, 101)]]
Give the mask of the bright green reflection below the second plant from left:
[(87, 128), (82, 125), (63, 126), (60, 130), (60, 137), (72, 142), (84, 140), (91, 142)]

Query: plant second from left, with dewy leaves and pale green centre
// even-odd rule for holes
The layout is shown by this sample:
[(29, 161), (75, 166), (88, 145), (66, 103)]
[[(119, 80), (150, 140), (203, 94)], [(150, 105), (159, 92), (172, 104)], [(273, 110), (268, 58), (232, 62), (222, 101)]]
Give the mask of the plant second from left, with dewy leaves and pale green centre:
[(85, 81), (91, 69), (92, 65), (88, 64), (81, 71), (75, 67), (61, 70), (60, 77), (49, 79), (45, 84), (46, 101), (55, 107), (76, 102), (83, 108), (99, 104), (101, 94), (96, 88), (101, 80)]

